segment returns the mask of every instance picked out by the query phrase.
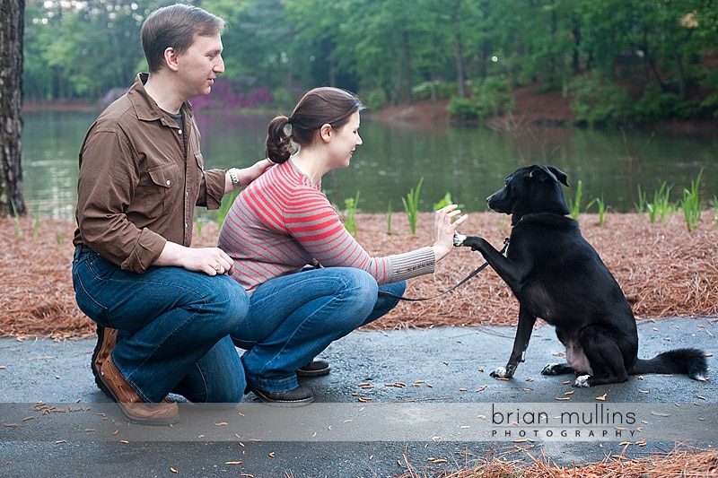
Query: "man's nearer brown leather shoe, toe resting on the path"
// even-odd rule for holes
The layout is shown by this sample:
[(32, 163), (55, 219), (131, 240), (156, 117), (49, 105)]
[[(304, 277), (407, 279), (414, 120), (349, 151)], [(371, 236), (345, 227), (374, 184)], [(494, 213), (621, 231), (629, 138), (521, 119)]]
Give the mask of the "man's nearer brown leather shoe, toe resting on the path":
[(180, 407), (177, 403), (165, 398), (159, 404), (148, 404), (137, 395), (133, 387), (119, 374), (112, 363), (112, 357), (102, 363), (98, 378), (107, 387), (112, 399), (119, 405), (125, 418), (140, 425), (170, 425), (180, 420)]

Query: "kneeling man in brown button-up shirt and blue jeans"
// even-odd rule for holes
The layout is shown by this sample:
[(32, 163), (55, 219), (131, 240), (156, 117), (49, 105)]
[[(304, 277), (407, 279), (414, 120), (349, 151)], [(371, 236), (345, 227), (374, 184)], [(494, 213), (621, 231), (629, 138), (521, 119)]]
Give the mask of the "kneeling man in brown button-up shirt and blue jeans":
[(101, 113), (80, 151), (75, 298), (98, 324), (95, 380), (131, 422), (177, 422), (170, 393), (236, 403), (246, 387), (229, 333), (247, 294), (221, 249), (189, 248), (195, 206), (218, 208), (271, 164), (203, 170), (188, 99), (224, 71), (223, 28), (193, 6), (152, 13), (142, 28), (149, 74)]

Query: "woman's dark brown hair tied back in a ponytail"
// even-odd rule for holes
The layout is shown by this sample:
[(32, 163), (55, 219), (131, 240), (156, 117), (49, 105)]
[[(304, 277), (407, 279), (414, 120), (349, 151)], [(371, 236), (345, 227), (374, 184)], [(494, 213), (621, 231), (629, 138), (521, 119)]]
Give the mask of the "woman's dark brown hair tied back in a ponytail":
[(321, 126), (341, 129), (355, 111), (362, 109), (362, 102), (349, 91), (329, 86), (308, 91), (294, 107), (292, 116), (278, 116), (269, 122), (267, 158), (285, 162), (297, 146), (310, 144)]

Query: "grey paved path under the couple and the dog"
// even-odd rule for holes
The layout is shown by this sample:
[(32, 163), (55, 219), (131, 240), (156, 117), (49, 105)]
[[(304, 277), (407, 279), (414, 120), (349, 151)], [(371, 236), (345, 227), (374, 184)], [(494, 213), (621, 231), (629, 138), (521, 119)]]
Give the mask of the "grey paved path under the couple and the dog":
[[(718, 444), (716, 378), (573, 388), (571, 377), (539, 373), (563, 361), (550, 326), (535, 331), (514, 378), (490, 378), (513, 333), (357, 332), (321, 355), (331, 362), (327, 377), (302, 381), (315, 404), (281, 409), (253, 395), (224, 409), (180, 404), (173, 427), (122, 420), (94, 386), (94, 341), (0, 339), (0, 476), (431, 475), (486, 456), (584, 465)], [(716, 369), (714, 318), (643, 321), (639, 335), (641, 357), (698, 347)]]

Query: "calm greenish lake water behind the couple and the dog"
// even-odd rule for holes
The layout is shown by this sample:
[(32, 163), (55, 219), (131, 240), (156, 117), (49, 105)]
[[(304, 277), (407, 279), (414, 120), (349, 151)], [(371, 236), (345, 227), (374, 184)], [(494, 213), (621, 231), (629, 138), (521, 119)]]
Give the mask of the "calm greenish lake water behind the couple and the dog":
[[(95, 113), (26, 112), (23, 114), (23, 194), (28, 213), (74, 218), (77, 153)], [(250, 165), (264, 157), (270, 117), (227, 112), (199, 113), (206, 168)], [(582, 181), (582, 204), (603, 197), (609, 211), (634, 210), (640, 186), (649, 198), (661, 183), (678, 200), (703, 169), (701, 196), (718, 196), (718, 135), (665, 136), (630, 130), (523, 128), (499, 133), (483, 127), (445, 126), (418, 129), (362, 118), (358, 148), (348, 169), (325, 176), (329, 199), (344, 208), (360, 194), (364, 213), (403, 212), (406, 197), (420, 178), (421, 211), (431, 211), (446, 193), (466, 212), (486, 211), (486, 196), (503, 186), (514, 169), (542, 163), (563, 169), (574, 198)], [(594, 209), (595, 211), (595, 209)]]

